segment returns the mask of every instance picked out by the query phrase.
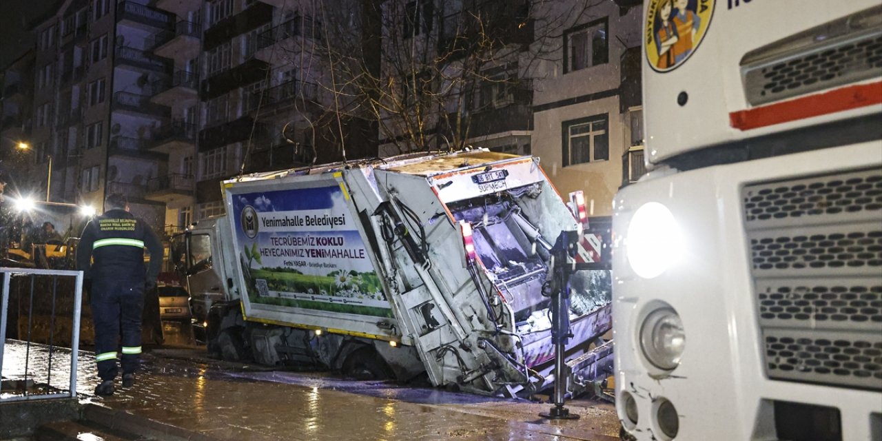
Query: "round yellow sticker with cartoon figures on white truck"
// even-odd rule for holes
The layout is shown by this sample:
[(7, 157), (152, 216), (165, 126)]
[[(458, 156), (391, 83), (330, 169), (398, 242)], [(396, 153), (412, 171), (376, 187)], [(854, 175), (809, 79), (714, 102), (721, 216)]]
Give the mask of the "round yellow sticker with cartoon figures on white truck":
[(654, 71), (683, 64), (707, 33), (714, 0), (652, 0), (647, 7), (647, 61)]

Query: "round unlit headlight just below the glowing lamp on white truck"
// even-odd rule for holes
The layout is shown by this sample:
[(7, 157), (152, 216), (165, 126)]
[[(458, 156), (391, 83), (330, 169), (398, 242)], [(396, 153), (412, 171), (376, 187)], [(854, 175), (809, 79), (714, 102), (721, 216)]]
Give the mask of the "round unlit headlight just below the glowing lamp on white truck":
[(686, 346), (683, 321), (670, 308), (654, 310), (640, 326), (640, 348), (649, 363), (662, 370), (673, 370), (680, 364)]

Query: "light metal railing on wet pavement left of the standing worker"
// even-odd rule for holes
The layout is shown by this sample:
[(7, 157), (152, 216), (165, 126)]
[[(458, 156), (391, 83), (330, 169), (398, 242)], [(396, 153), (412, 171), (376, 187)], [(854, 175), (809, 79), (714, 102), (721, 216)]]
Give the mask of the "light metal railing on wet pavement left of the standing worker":
[[(25, 356), (24, 356), (24, 370), (22, 370), (22, 375), (20, 378), (18, 376), (14, 376), (9, 378), (9, 383), (12, 384), (15, 381), (19, 385), (24, 385), (24, 387), (19, 387), (18, 392), (5, 392), (0, 393), (0, 402), (4, 401), (16, 401), (16, 400), (46, 400), (46, 399), (56, 399), (56, 398), (73, 398), (77, 396), (77, 367), (78, 367), (78, 352), (79, 352), (79, 319), (80, 312), (82, 309), (82, 298), (83, 298), (83, 272), (82, 271), (62, 271), (62, 270), (37, 270), (37, 269), (25, 269), (25, 268), (3, 268), (0, 267), (0, 274), (3, 275), (3, 295), (0, 296), (0, 372), (4, 370), (4, 355), (6, 353), (6, 326), (9, 323), (9, 303), (11, 298), (11, 286), (13, 278), (26, 278), (30, 283), (26, 283), (29, 286), (28, 293), (26, 294), (26, 299), (22, 298), (21, 295), (22, 289), (25, 288), (22, 283), (18, 283), (18, 298), (19, 305), (23, 302), (27, 302), (27, 327), (26, 327), (26, 335), (25, 339), (22, 339), (22, 335), (17, 335), (19, 341), (15, 341), (18, 343), (17, 346), (20, 348), (21, 345), (25, 346)], [(59, 348), (55, 343), (55, 334), (56, 334), (56, 309), (63, 305), (64, 303), (59, 302), (59, 294), (64, 295), (64, 293), (59, 293), (59, 278), (64, 278), (65, 281), (68, 278), (74, 279), (73, 288), (73, 298), (71, 299), (71, 361), (69, 364), (70, 369), (70, 379), (67, 383), (68, 389), (65, 391), (63, 388), (56, 387), (52, 383), (52, 375), (55, 370), (64, 370), (64, 365), (59, 368), (57, 365), (53, 367), (53, 355), (56, 352), (56, 349)], [(39, 279), (39, 283), (38, 283)], [(19, 281), (19, 280), (16, 280)], [(64, 287), (61, 289), (71, 288), (69, 283), (64, 283)], [(36, 336), (34, 335), (34, 319), (35, 319), (35, 309), (34, 305), (38, 305), (38, 307), (46, 308), (47, 305), (49, 307), (49, 339), (48, 342), (43, 345), (34, 341)], [(19, 307), (19, 310), (21, 308)], [(17, 322), (20, 317), (17, 317)], [(18, 324), (19, 330), (21, 329), (21, 324)], [(10, 340), (13, 342), (12, 340)], [(45, 366), (45, 370), (43, 370), (43, 366), (34, 367), (31, 364), (32, 358), (32, 347), (34, 348), (34, 355), (41, 353), (43, 349), (48, 349), (49, 357), (46, 360), (47, 365)], [(20, 352), (20, 351), (19, 351)], [(18, 357), (17, 357), (18, 358)], [(38, 372), (38, 373), (33, 373)], [(41, 373), (45, 373), (45, 383), (41, 383), (43, 380), (43, 376)], [(28, 387), (33, 382), (34, 387)], [(57, 382), (56, 382), (57, 383)], [(38, 387), (39, 386), (39, 387)], [(34, 392), (37, 391), (37, 392)], [(40, 393), (45, 392), (45, 393)]]

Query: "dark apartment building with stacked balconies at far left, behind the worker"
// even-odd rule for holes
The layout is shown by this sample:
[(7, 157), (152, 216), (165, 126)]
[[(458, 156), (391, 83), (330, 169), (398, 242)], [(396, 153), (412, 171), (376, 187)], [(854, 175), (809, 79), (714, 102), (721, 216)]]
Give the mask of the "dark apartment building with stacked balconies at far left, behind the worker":
[(169, 111), (150, 92), (170, 64), (149, 49), (171, 19), (136, 2), (64, 0), (34, 24), (30, 144), (36, 161), (51, 163), (50, 200), (101, 208), (108, 193), (123, 192), (133, 213), (162, 230), (164, 206), (147, 198), (147, 184), (168, 173), (168, 154), (151, 146)]

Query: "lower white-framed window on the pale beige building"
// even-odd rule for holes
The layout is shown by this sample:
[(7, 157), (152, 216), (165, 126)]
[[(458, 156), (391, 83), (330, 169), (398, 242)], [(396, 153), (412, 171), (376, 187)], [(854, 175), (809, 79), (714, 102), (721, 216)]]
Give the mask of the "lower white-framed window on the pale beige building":
[(609, 116), (564, 121), (564, 167), (609, 160)]

